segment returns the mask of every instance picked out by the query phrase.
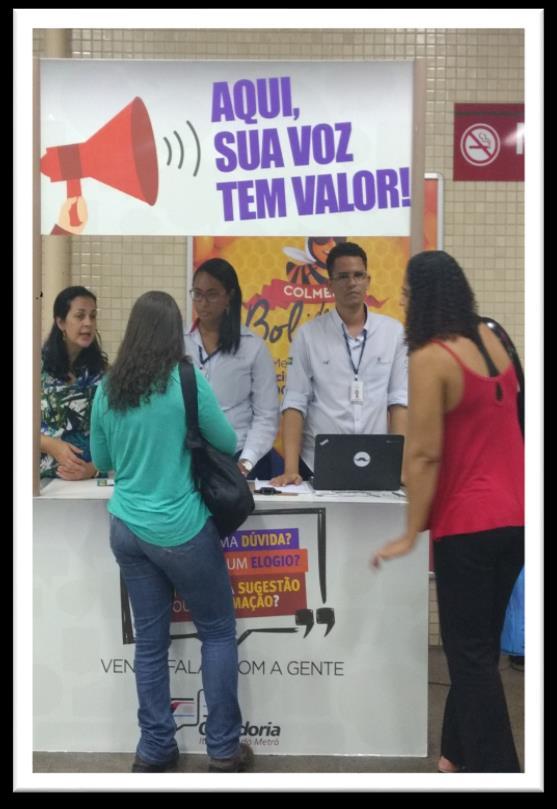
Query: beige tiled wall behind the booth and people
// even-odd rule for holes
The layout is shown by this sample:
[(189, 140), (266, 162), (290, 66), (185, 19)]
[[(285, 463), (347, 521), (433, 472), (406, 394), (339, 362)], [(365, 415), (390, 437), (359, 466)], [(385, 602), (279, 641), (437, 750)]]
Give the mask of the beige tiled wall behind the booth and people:
[[(36, 31), (35, 54), (44, 48)], [(521, 103), (524, 42), (514, 29), (74, 29), (72, 56), (115, 59), (425, 59), (426, 171), (445, 178), (445, 249), (465, 269), (480, 311), (524, 346), (523, 183), (452, 182), (454, 103)], [(184, 313), (186, 240), (72, 239), (72, 278), (99, 296), (99, 329), (114, 357), (131, 304), (164, 289)], [(48, 313), (47, 313), (48, 318)], [(430, 642), (439, 642), (431, 594)]]

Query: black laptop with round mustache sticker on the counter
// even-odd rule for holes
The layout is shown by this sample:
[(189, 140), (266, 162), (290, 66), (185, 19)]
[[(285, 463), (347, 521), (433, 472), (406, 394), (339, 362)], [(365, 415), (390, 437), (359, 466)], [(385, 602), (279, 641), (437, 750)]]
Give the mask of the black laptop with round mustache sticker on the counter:
[(395, 491), (403, 445), (402, 435), (317, 435), (313, 488)]

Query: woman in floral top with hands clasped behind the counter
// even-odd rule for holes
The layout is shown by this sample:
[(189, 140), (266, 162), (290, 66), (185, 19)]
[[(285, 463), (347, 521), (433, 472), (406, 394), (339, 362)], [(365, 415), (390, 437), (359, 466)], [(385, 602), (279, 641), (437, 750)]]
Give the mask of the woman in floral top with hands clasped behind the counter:
[(98, 474), (89, 451), (89, 424), (107, 366), (97, 335), (96, 297), (81, 286), (63, 289), (42, 350), (42, 478), (85, 480)]

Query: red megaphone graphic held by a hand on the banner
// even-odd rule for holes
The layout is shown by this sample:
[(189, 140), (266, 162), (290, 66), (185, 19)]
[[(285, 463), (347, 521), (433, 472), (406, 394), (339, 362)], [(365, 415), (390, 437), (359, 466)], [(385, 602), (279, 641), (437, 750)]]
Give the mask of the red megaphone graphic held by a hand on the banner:
[[(84, 143), (48, 148), (41, 158), (41, 172), (53, 183), (67, 182), (68, 198), (81, 196), (80, 180), (93, 177), (154, 205), (159, 190), (157, 152), (143, 101), (134, 98)], [(72, 225), (81, 224), (76, 209), (72, 205)]]

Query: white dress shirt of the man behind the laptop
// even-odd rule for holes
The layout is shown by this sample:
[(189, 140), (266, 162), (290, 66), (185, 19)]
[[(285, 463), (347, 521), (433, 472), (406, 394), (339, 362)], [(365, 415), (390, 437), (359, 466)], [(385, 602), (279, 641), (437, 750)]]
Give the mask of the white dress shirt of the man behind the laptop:
[[(354, 338), (332, 309), (298, 329), (289, 363), (281, 409), (304, 416), (301, 455), (310, 469), (319, 433), (384, 434), (387, 408), (408, 405), (408, 352), (402, 325), (392, 317), (368, 310)], [(351, 401), (354, 368), (363, 384), (361, 403)]]

